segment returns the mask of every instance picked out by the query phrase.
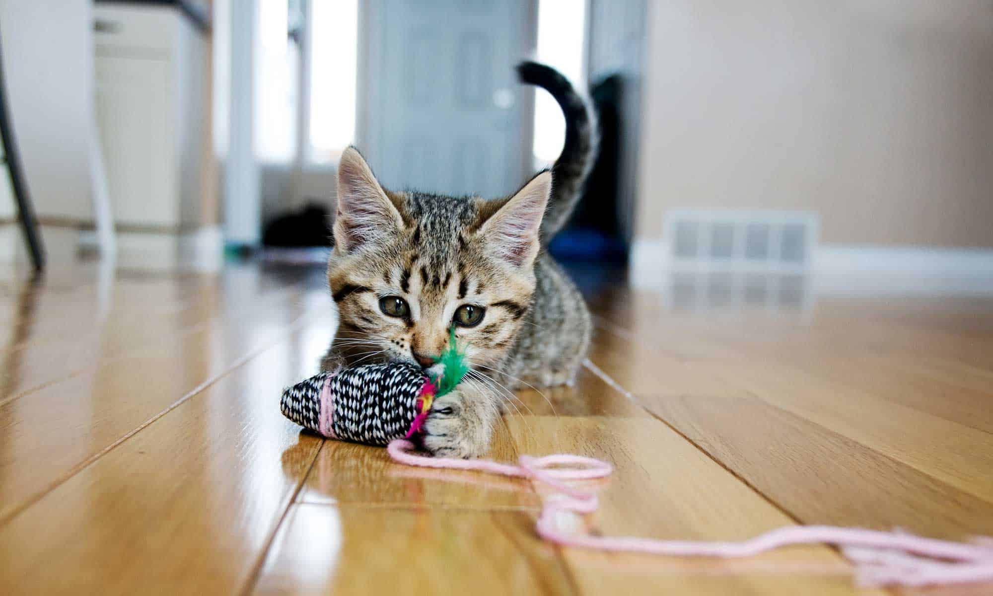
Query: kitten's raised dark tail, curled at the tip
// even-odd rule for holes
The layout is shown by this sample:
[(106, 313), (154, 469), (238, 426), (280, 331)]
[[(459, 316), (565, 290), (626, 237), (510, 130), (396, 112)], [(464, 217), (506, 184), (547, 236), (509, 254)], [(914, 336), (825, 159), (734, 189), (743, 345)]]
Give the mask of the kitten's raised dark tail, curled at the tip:
[(589, 100), (555, 69), (522, 62), (517, 65), (517, 75), (521, 82), (551, 93), (565, 114), (565, 145), (552, 166), (552, 194), (541, 222), (541, 243), (547, 244), (569, 220), (593, 168), (597, 156), (597, 121)]

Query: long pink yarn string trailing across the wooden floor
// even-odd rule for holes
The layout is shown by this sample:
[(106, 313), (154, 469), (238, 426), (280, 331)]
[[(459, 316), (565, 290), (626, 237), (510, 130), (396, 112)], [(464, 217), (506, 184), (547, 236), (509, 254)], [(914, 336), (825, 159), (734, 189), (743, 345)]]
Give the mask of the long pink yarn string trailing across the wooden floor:
[[(597, 496), (565, 484), (606, 478), (614, 469), (607, 462), (578, 455), (520, 456), (517, 465), (491, 460), (435, 458), (412, 453), (410, 441), (397, 439), (386, 447), (396, 462), (422, 468), (473, 470), (526, 478), (556, 491), (545, 499), (536, 530), (543, 539), (562, 546), (593, 550), (639, 552), (668, 556), (735, 558), (754, 556), (783, 546), (830, 544), (855, 565), (858, 582), (866, 586), (924, 586), (993, 581), (993, 542), (976, 543), (925, 538), (902, 531), (879, 531), (832, 525), (790, 525), (741, 541), (656, 540), (633, 536), (594, 536), (564, 531), (564, 515), (591, 514)], [(564, 466), (564, 467), (563, 467)]]

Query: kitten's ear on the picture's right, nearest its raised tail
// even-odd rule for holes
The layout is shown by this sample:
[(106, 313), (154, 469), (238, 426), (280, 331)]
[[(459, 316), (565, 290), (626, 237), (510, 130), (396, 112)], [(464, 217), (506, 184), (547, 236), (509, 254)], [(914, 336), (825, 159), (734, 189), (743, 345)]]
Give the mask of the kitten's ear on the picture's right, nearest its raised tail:
[(483, 224), (480, 233), (487, 245), (514, 266), (531, 264), (538, 254), (538, 230), (551, 191), (551, 172), (532, 178)]

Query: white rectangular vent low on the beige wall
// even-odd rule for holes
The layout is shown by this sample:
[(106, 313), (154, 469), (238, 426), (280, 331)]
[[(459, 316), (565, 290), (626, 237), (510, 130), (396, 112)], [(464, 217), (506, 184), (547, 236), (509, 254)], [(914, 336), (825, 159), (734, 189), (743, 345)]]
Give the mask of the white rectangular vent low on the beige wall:
[(807, 270), (817, 245), (816, 214), (676, 210), (665, 218), (674, 268)]

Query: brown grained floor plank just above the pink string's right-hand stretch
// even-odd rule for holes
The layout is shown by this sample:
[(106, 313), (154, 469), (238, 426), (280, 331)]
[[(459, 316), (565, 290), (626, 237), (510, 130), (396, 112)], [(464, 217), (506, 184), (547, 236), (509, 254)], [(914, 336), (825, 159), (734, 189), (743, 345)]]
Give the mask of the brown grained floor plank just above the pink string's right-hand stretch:
[(989, 502), (754, 397), (639, 398), (802, 522), (993, 535)]

